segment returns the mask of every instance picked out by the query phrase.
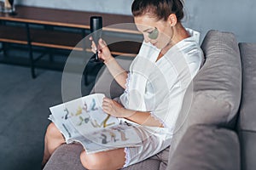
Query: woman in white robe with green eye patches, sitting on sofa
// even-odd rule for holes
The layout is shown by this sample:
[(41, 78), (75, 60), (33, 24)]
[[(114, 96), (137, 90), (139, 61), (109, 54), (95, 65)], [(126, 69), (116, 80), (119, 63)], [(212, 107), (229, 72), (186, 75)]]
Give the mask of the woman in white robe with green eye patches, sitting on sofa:
[[(125, 122), (146, 126), (140, 128), (143, 145), (95, 154), (83, 151), (80, 160), (87, 169), (127, 167), (166, 149), (171, 144), (183, 94), (203, 61), (199, 34), (181, 24), (181, 0), (135, 0), (131, 10), (144, 41), (129, 73), (113, 58), (106, 42), (102, 39), (98, 42), (99, 58), (125, 88), (119, 101), (103, 99), (102, 108)], [(91, 48), (96, 53), (94, 42)], [(63, 143), (61, 133), (51, 123), (45, 135), (43, 162)]]

